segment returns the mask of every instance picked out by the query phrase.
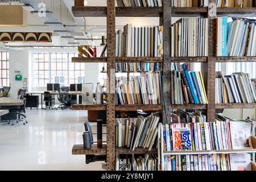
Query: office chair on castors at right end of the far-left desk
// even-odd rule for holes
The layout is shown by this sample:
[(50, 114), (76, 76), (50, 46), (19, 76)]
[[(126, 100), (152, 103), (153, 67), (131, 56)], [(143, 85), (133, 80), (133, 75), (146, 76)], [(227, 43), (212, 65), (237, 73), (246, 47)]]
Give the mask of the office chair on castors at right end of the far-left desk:
[(18, 91), (18, 99), (23, 100), (23, 105), (20, 107), (20, 109), (11, 109), (11, 113), (16, 113), (16, 119), (9, 121), (8, 123), (11, 125), (14, 125), (14, 122), (23, 122), (23, 125), (26, 125), (27, 117), (26, 117), (26, 90), (19, 89)]

